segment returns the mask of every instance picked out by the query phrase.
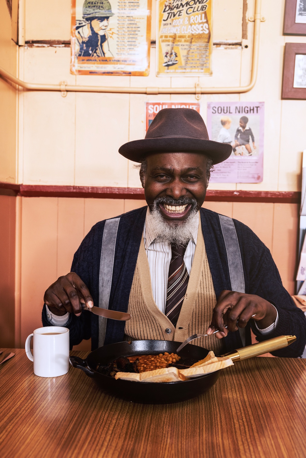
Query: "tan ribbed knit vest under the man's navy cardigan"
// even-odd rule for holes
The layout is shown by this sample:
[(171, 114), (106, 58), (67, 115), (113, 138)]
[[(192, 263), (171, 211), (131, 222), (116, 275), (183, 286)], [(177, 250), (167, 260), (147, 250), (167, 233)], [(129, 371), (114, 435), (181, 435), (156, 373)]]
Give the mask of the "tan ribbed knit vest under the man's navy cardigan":
[[(176, 327), (159, 310), (153, 299), (149, 262), (142, 238), (129, 295), (128, 312), (131, 319), (125, 325), (125, 334), (128, 338), (183, 342), (192, 334), (206, 332), (215, 304), (215, 289), (200, 221), (188, 287)], [(167, 328), (171, 329), (171, 333), (166, 333)], [(195, 339), (192, 344), (213, 350), (215, 354), (221, 354), (223, 349), (223, 339), (217, 339), (215, 335)]]

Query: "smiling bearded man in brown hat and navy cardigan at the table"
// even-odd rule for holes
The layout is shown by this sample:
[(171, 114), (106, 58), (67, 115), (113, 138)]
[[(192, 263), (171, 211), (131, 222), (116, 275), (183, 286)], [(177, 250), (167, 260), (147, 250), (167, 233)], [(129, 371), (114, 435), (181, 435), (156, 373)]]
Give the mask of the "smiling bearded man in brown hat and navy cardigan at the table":
[[(195, 110), (162, 109), (145, 139), (119, 153), (141, 163), (148, 207), (91, 229), (71, 272), (47, 289), (43, 325), (68, 327), (71, 345), (91, 337), (92, 349), (123, 339), (183, 342), (207, 330), (194, 343), (216, 354), (250, 343), (251, 325), (258, 340), (295, 334), (274, 353), (300, 356), (306, 318), (268, 248), (244, 224), (201, 208), (210, 169), (231, 145), (209, 141)], [(81, 302), (128, 311), (131, 320), (106, 322)]]

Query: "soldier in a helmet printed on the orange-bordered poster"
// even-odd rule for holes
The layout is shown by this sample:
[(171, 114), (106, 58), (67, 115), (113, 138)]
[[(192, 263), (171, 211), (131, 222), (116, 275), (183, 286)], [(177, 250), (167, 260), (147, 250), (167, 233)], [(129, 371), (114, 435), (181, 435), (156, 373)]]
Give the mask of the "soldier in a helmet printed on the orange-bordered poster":
[[(109, 18), (113, 16), (108, 0), (92, 2), (86, 0), (83, 5), (83, 18), (87, 22), (75, 30), (75, 54), (77, 57), (110, 57), (112, 53), (105, 43), (108, 36), (106, 29)], [(108, 43), (107, 43), (108, 45)]]

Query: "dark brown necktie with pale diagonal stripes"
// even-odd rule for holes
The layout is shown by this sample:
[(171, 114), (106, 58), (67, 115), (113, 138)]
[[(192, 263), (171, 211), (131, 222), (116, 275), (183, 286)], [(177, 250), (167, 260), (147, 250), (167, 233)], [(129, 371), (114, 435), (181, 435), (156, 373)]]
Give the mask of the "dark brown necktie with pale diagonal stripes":
[(187, 245), (171, 244), (172, 258), (168, 275), (166, 316), (174, 326), (177, 324), (189, 280), (184, 262), (186, 247)]

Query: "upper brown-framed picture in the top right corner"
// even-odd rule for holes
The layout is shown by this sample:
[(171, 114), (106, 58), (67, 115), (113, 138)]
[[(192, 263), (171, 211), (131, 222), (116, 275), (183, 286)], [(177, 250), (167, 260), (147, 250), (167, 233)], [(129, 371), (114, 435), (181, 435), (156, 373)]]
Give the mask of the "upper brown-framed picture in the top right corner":
[(284, 35), (306, 35), (306, 0), (286, 0)]

